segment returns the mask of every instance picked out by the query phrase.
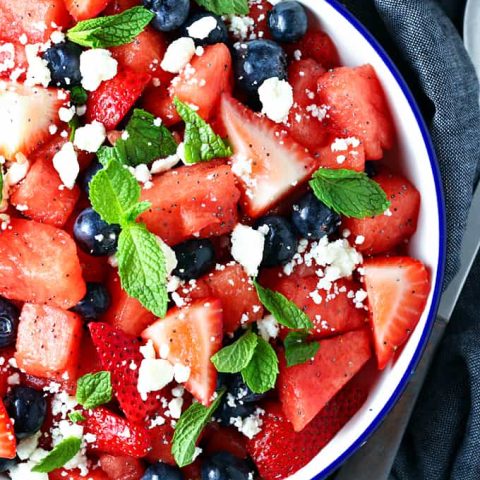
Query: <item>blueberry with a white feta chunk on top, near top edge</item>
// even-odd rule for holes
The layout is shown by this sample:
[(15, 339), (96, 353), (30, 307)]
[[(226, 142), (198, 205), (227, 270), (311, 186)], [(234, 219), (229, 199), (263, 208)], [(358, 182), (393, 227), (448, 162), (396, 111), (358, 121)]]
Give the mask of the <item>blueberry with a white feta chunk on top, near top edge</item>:
[[(207, 36), (205, 32), (209, 32)], [(225, 22), (218, 15), (208, 12), (191, 15), (182, 27), (182, 36), (193, 38), (195, 45), (213, 45), (228, 41)]]

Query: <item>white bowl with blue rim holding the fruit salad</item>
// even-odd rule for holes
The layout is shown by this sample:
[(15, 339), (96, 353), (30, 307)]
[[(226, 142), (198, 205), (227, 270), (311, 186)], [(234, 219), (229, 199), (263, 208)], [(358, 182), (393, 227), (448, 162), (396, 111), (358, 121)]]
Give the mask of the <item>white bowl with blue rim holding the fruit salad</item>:
[(383, 48), (336, 0), (300, 0), (335, 42), (341, 63), (370, 63), (386, 92), (397, 129), (397, 147), (386, 155), (389, 166), (404, 173), (421, 193), (418, 230), (409, 254), (429, 268), (432, 289), (418, 326), (395, 363), (375, 382), (357, 414), (304, 468), (289, 480), (323, 479), (354, 453), (379, 426), (405, 388), (429, 338), (441, 293), (445, 258), (445, 219), (440, 172), (435, 152), (413, 95)]

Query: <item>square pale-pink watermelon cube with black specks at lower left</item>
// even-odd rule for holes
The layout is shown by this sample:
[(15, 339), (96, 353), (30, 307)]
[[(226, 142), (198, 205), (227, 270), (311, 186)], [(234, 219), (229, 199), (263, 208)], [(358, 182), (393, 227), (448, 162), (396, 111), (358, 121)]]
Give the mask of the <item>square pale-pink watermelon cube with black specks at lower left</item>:
[(83, 322), (73, 312), (26, 303), (17, 333), (15, 359), (30, 375), (50, 380), (76, 378)]

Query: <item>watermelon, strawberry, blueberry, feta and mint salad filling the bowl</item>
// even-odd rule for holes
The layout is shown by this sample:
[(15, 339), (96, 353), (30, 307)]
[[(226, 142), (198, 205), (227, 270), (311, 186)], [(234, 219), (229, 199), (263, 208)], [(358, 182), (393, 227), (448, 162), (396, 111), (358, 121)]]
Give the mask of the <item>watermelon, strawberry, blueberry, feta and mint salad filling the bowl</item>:
[(375, 70), (291, 0), (0, 25), (0, 471), (288, 478), (430, 290)]

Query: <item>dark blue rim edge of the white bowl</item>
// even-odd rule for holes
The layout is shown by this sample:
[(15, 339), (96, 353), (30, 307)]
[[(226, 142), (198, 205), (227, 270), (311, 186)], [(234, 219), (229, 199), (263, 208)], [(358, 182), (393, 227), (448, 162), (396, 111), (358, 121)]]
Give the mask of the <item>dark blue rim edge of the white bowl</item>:
[(438, 258), (438, 271), (434, 284), (432, 304), (428, 314), (427, 322), (425, 329), (420, 338), (418, 347), (413, 355), (413, 358), (408, 365), (408, 368), (405, 371), (405, 374), (401, 378), (397, 388), (393, 394), (388, 399), (387, 403), (383, 409), (376, 415), (369, 427), (355, 440), (355, 442), (350, 445), (350, 447), (337, 459), (335, 459), (328, 467), (315, 475), (312, 480), (322, 480), (328, 475), (335, 472), (335, 470), (341, 466), (353, 453), (355, 453), (366, 441), (367, 439), (375, 432), (375, 430), (380, 426), (382, 421), (385, 419), (386, 415), (394, 407), (395, 403), (399, 399), (400, 395), (404, 391), (405, 387), (408, 384), (408, 381), (415, 371), (415, 368), (420, 361), (420, 358), (425, 350), (428, 339), (430, 337), (433, 324), (435, 323), (436, 314), (438, 305), (440, 303), (440, 297), (442, 294), (443, 287), (443, 278), (445, 273), (445, 253), (446, 253), (446, 217), (445, 217), (445, 199), (443, 194), (443, 186), (441, 181), (440, 169), (438, 166), (438, 160), (435, 153), (435, 148), (433, 146), (432, 139), (430, 138), (430, 133), (428, 131), (427, 125), (423, 118), (423, 115), (420, 111), (420, 108), (407, 85), (407, 82), (403, 78), (402, 74), (393, 63), (392, 59), (389, 57), (385, 49), (380, 45), (376, 38), (370, 33), (370, 31), (338, 0), (323, 0), (332, 6), (340, 15), (342, 15), (370, 44), (370, 46), (375, 50), (375, 52), (380, 56), (384, 64), (390, 70), (391, 74), (395, 78), (397, 84), (401, 88), (405, 98), (407, 99), (410, 108), (415, 116), (418, 128), (423, 137), (425, 147), (427, 149), (428, 157), (430, 160), (430, 166), (433, 173), (435, 189), (437, 193), (437, 210), (438, 210), (438, 220), (439, 220), (439, 258)]

